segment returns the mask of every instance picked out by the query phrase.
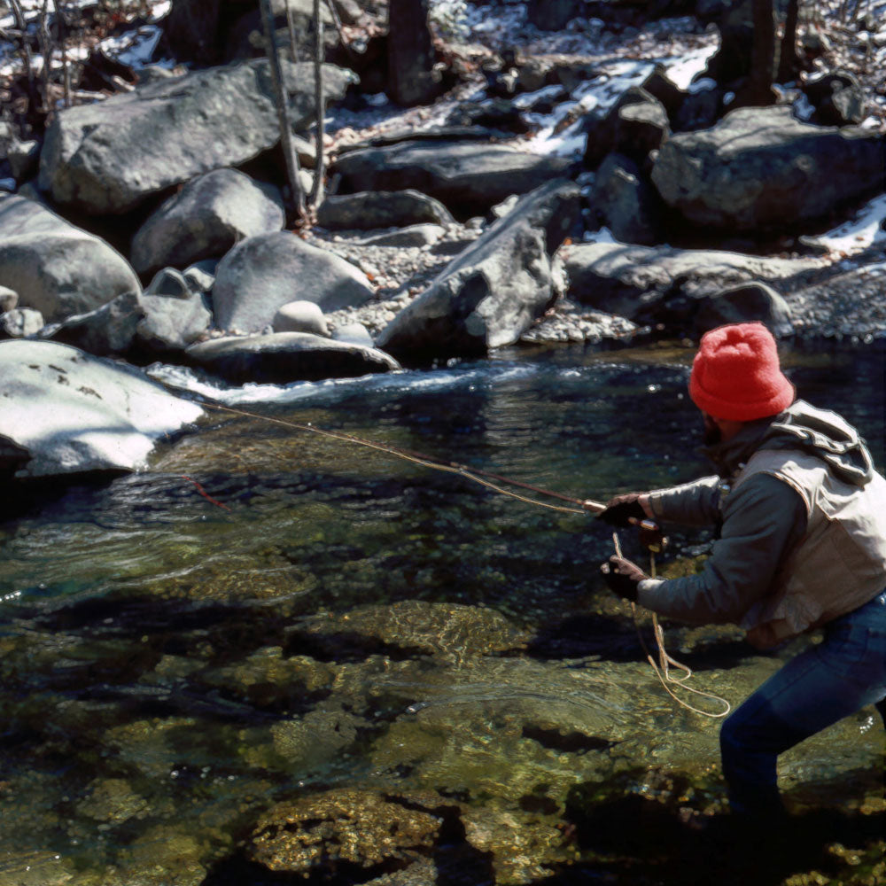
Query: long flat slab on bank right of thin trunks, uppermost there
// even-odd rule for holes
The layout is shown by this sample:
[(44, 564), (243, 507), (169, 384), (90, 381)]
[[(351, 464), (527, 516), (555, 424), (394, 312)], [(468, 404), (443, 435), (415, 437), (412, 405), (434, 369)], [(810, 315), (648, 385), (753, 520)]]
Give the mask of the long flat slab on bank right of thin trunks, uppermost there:
[(416, 140), (348, 152), (332, 172), (341, 175), (342, 192), (419, 190), (463, 218), (534, 190), (570, 166), (568, 159), (507, 144)]

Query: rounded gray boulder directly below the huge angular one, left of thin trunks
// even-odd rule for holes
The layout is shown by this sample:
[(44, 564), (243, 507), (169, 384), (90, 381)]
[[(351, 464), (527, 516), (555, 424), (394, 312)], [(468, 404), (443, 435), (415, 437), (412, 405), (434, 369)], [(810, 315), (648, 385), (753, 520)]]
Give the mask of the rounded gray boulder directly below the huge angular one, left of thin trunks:
[(279, 190), (237, 169), (215, 169), (187, 183), (153, 213), (132, 240), (130, 260), (139, 274), (185, 268), (215, 258), (245, 237), (284, 227)]

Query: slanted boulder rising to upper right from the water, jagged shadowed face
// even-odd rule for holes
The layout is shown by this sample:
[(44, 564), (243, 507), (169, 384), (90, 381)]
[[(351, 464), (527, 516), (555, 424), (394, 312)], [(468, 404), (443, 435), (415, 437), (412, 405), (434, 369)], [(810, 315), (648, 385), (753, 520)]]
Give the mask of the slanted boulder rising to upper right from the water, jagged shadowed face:
[(578, 214), (579, 188), (563, 179), (525, 195), (394, 317), (377, 346), (426, 361), (513, 344), (556, 298), (553, 254)]

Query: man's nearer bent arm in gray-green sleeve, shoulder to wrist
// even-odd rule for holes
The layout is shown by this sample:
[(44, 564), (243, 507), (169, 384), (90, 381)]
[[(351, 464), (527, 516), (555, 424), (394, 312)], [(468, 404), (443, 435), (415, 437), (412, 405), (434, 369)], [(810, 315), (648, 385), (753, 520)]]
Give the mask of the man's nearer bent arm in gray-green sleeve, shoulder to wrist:
[(685, 579), (645, 579), (637, 602), (690, 624), (740, 622), (766, 595), (806, 532), (803, 499), (787, 483), (756, 474), (729, 494), (721, 537), (703, 571)]

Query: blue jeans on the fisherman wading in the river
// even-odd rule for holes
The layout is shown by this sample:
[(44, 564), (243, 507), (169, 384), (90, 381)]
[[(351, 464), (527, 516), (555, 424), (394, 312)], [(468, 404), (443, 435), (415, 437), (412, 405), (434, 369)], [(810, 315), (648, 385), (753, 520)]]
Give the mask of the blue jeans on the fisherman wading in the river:
[(733, 812), (783, 814), (778, 755), (843, 717), (876, 704), (886, 721), (886, 591), (825, 627), (824, 640), (792, 658), (720, 729)]

